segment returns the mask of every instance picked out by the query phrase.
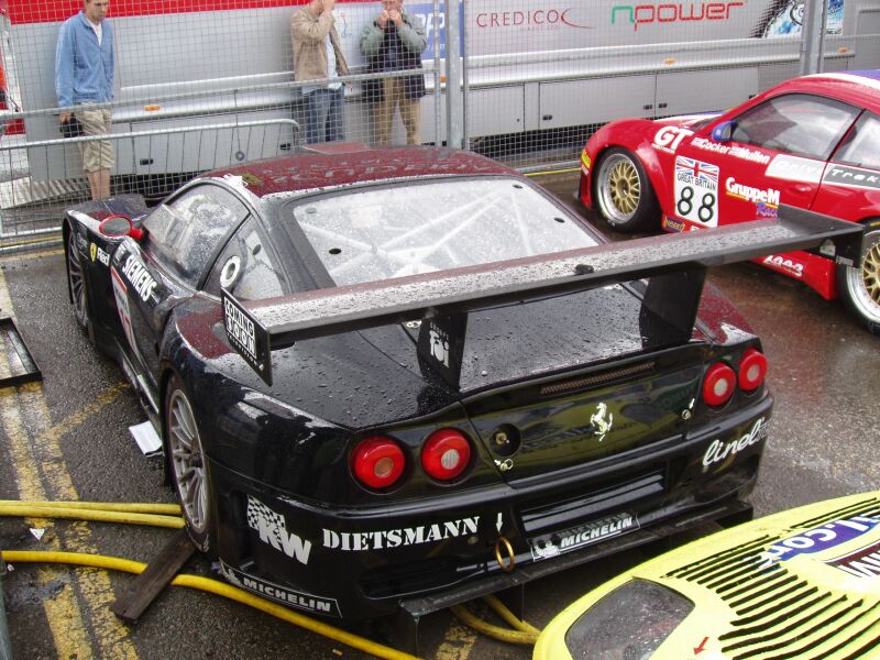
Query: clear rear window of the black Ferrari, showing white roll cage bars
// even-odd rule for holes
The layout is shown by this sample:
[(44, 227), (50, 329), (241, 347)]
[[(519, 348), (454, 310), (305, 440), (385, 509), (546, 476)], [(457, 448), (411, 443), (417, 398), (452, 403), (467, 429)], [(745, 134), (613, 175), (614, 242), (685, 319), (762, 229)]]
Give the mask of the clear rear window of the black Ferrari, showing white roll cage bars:
[(293, 213), (340, 286), (596, 244), (572, 216), (509, 178), (370, 188), (308, 199)]

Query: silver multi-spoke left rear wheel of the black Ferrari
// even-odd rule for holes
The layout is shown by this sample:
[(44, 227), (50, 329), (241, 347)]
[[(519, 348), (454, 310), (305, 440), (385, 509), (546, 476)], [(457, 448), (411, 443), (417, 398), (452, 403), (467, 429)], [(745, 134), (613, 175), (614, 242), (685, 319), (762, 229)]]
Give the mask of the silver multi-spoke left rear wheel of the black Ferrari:
[(173, 376), (165, 397), (166, 455), (186, 531), (196, 548), (211, 552), (216, 546), (213, 496), (208, 459), (189, 400), (180, 378)]

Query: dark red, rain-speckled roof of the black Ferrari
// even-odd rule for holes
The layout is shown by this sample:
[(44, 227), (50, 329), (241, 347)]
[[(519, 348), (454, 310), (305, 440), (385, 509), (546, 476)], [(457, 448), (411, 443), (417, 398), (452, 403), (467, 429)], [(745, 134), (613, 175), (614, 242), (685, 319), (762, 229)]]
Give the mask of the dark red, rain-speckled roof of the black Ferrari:
[(250, 193), (263, 198), (364, 182), (499, 174), (520, 176), (499, 163), (461, 150), (336, 143), (326, 147), (307, 147), (301, 153), (288, 156), (217, 169), (201, 178), (241, 177)]

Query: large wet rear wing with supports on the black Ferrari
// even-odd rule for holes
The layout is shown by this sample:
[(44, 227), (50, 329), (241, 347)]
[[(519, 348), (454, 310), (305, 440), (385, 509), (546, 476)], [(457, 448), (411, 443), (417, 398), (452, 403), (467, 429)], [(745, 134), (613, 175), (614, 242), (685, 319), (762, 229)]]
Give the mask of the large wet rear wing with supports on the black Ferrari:
[(223, 290), (230, 343), (272, 384), (273, 350), (296, 341), (421, 319), (420, 359), (458, 387), (468, 312), (649, 278), (642, 316), (651, 332), (686, 341), (710, 266), (815, 250), (858, 263), (862, 227), (794, 207), (717, 229), (606, 243), (556, 254), (241, 302)]

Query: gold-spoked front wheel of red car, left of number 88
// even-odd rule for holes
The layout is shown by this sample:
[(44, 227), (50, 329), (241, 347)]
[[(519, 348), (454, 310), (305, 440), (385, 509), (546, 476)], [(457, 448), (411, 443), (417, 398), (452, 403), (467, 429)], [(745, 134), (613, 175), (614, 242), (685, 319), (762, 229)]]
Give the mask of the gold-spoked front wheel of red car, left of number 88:
[(594, 199), (608, 226), (622, 232), (657, 229), (660, 205), (641, 162), (618, 146), (602, 154), (594, 177)]

